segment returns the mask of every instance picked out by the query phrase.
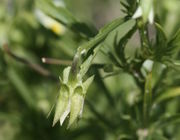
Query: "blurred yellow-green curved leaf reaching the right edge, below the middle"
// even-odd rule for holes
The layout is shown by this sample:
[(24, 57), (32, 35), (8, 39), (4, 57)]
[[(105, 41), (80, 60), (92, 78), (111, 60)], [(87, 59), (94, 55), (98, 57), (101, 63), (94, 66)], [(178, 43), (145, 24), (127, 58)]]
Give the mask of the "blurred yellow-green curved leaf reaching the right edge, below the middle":
[(168, 89), (166, 92), (161, 93), (155, 100), (154, 105), (159, 104), (165, 100), (180, 96), (180, 87)]

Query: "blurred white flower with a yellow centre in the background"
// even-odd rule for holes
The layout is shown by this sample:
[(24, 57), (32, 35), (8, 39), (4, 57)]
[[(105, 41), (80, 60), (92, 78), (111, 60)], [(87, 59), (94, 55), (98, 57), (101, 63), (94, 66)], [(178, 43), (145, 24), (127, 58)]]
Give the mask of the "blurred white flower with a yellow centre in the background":
[(65, 33), (65, 27), (61, 23), (47, 16), (41, 10), (36, 9), (35, 15), (45, 28), (52, 30), (55, 34), (63, 35)]

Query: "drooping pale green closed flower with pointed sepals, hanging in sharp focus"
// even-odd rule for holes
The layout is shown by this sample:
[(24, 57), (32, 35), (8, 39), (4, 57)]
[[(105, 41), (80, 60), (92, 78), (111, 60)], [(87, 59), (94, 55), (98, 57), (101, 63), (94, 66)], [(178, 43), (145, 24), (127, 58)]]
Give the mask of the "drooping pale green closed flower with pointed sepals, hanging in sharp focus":
[(69, 115), (70, 127), (77, 118), (82, 116), (84, 98), (89, 85), (92, 83), (94, 76), (89, 77), (85, 82), (82, 82), (80, 76), (72, 81), (70, 77), (71, 67), (67, 67), (63, 71), (63, 79), (60, 78), (61, 88), (59, 97), (56, 103), (53, 126), (60, 121), (60, 125)]

